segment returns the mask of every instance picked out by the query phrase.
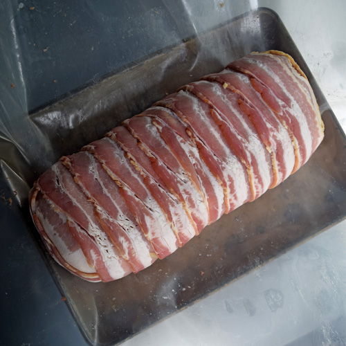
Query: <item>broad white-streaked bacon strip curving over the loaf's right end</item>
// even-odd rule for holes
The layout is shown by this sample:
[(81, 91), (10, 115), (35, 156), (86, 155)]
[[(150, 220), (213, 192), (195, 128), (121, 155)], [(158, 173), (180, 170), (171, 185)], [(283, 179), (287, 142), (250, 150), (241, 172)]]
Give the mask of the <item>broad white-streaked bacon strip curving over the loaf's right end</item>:
[(228, 67), (251, 75), (254, 88), (290, 129), (299, 159), (294, 172), (307, 161), (323, 137), (320, 115), (301, 84), (284, 64), (268, 54), (253, 53)]

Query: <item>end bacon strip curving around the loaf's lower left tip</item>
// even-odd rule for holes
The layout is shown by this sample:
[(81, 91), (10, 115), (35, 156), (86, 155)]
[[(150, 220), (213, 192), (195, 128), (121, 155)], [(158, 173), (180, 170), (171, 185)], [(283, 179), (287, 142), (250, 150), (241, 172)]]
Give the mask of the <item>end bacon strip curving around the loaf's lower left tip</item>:
[(71, 273), (91, 282), (100, 281), (95, 268), (89, 266), (67, 225), (66, 216), (44, 198), (39, 190), (35, 190), (30, 198), (30, 210), (51, 256)]

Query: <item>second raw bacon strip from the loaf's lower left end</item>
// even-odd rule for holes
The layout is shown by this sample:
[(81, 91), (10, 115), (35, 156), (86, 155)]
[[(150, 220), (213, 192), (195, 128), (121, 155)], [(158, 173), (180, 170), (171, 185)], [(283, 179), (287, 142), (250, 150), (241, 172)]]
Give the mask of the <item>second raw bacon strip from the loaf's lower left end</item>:
[(69, 230), (80, 244), (89, 264), (104, 282), (131, 273), (131, 268), (118, 255), (93, 213), (93, 205), (84, 196), (61, 162), (42, 174), (36, 187), (69, 219)]

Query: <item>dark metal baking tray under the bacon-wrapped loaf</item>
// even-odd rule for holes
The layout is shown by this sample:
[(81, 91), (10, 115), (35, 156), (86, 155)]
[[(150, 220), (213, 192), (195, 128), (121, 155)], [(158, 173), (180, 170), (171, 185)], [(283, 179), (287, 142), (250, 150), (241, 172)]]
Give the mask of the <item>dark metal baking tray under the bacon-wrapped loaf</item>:
[(322, 145), (279, 187), (225, 215), (165, 260), (107, 284), (86, 282), (55, 264), (32, 226), (89, 343), (118, 343), (343, 219), (345, 136), (280, 19), (266, 9), (166, 48), (30, 115), (43, 142), (41, 150), (28, 147), (35, 165), (29, 185), (60, 156), (102, 137), (179, 86), (268, 49), (289, 53), (302, 67), (325, 122)]

